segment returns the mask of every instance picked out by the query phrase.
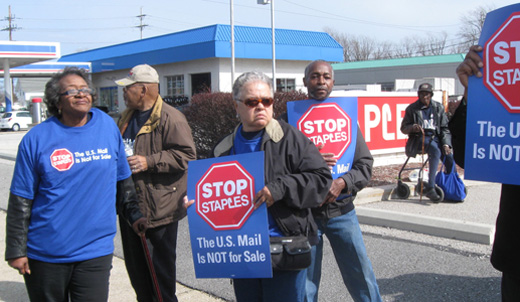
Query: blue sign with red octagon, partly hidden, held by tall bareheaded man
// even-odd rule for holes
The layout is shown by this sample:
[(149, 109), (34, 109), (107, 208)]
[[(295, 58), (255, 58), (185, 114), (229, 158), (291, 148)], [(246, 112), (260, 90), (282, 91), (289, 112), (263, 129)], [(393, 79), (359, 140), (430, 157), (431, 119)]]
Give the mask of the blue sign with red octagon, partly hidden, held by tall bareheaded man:
[(334, 179), (352, 168), (356, 151), (357, 112), (357, 97), (287, 103), (289, 124), (321, 148), (321, 153), (332, 153), (338, 160), (331, 169)]

